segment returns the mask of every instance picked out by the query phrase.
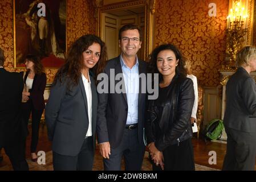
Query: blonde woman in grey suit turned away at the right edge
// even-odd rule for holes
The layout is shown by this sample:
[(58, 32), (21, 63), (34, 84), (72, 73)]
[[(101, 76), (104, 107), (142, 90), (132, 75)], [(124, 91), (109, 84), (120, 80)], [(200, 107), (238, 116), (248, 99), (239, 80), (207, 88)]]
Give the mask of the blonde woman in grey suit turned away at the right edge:
[(237, 72), (227, 81), (224, 126), (227, 149), (223, 170), (254, 171), (256, 157), (256, 47), (237, 53)]

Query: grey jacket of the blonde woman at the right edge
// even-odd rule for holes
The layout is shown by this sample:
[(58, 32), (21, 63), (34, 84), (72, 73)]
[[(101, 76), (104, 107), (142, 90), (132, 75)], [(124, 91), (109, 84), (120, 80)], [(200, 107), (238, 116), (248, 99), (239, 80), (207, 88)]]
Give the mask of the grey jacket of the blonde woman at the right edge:
[(227, 81), (224, 125), (256, 133), (256, 86), (249, 73), (239, 67)]

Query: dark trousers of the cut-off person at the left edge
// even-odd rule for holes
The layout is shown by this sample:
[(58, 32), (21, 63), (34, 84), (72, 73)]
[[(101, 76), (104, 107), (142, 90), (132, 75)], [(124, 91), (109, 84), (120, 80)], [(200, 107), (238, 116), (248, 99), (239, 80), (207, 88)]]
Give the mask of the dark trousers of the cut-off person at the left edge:
[(9, 157), (14, 171), (28, 171), (29, 166), (26, 161), (26, 138), (17, 138), (17, 142), (6, 142), (6, 155)]

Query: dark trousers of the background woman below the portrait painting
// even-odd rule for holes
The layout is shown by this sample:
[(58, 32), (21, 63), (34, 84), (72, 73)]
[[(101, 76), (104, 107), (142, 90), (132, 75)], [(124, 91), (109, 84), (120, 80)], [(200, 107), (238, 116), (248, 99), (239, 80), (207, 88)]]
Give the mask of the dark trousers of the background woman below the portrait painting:
[(36, 147), (38, 144), (39, 135), (39, 124), (43, 114), (43, 110), (36, 110), (31, 102), (31, 100), (26, 103), (22, 103), (22, 117), (27, 124), (29, 123), (30, 113), (32, 112), (32, 137), (30, 152), (36, 152)]

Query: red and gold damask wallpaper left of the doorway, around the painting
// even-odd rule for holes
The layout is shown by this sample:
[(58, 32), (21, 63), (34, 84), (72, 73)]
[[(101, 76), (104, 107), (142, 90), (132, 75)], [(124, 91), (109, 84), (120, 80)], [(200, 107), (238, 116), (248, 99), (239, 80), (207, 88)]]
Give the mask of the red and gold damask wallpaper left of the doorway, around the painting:
[[(84, 34), (96, 33), (96, 19), (91, 0), (67, 0), (67, 47)], [(14, 69), (13, 51), (13, 1), (0, 1), (0, 47), (5, 51), (5, 68), (7, 71), (20, 72), (25, 69)], [(47, 82), (52, 82), (56, 69), (47, 69)]]

